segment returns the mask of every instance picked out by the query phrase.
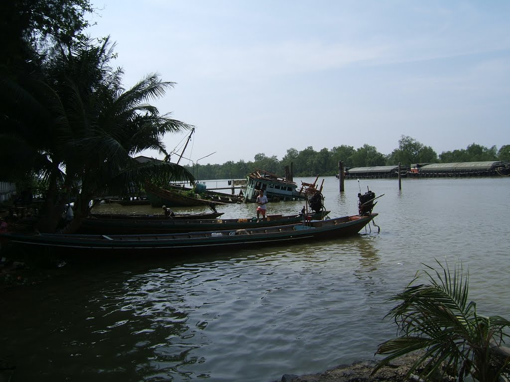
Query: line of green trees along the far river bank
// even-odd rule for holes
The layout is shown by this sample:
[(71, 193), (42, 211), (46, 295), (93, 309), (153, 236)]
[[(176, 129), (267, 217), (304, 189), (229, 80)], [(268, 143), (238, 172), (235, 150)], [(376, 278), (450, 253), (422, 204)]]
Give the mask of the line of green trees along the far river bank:
[(278, 160), (264, 153), (255, 155), (253, 161), (227, 161), (222, 165), (208, 163), (207, 165), (185, 166), (197, 180), (207, 179), (243, 179), (254, 169), (261, 169), (278, 176), (285, 175), (285, 167), (292, 163), (294, 176), (330, 176), (338, 174), (338, 162), (344, 162), (344, 168), (396, 166), (410, 167), (414, 163), (452, 163), (477, 162), (493, 160), (510, 160), (510, 145), (503, 145), (498, 150), (496, 146), (487, 148), (476, 143), (466, 149), (445, 151), (437, 154), (430, 146), (424, 146), (417, 140), (402, 135), (398, 141), (398, 148), (390, 154), (384, 155), (374, 146), (363, 145), (358, 149), (342, 145), (333, 149), (323, 148), (315, 151), (309, 146), (298, 151), (288, 149), (287, 154)]

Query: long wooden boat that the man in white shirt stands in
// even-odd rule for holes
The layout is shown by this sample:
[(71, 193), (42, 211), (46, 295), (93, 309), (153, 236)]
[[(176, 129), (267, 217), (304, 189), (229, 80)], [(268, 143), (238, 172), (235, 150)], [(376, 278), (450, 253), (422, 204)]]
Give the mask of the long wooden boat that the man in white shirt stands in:
[[(322, 220), (329, 211), (305, 214), (304, 220)], [(268, 215), (257, 219), (84, 219), (79, 229), (82, 234), (156, 234), (196, 231), (221, 231), (252, 229), (271, 226), (299, 224), (302, 214)]]

